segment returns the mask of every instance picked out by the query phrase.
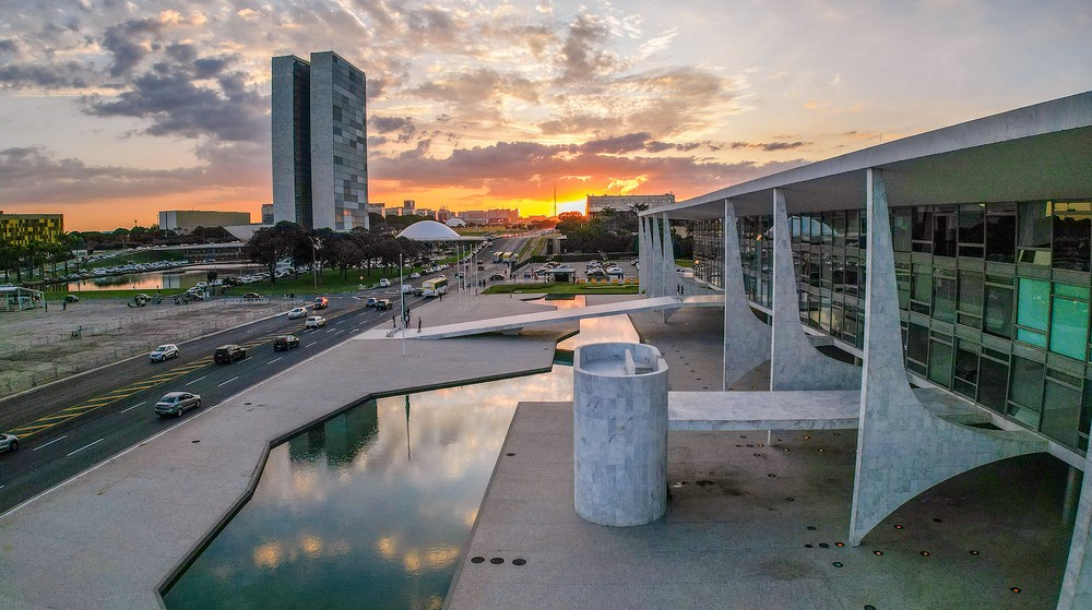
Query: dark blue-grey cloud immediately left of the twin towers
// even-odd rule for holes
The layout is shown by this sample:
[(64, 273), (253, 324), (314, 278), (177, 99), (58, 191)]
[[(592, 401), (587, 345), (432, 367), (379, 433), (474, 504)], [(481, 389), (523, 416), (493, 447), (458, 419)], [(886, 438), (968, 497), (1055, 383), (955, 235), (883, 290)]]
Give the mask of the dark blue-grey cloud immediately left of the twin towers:
[[(147, 119), (151, 124), (144, 132), (151, 135), (268, 142), (269, 99), (247, 86), (242, 72), (225, 71), (229, 63), (230, 58), (156, 63), (115, 97), (85, 98), (85, 111)], [(214, 83), (198, 85), (197, 79), (214, 79)]]

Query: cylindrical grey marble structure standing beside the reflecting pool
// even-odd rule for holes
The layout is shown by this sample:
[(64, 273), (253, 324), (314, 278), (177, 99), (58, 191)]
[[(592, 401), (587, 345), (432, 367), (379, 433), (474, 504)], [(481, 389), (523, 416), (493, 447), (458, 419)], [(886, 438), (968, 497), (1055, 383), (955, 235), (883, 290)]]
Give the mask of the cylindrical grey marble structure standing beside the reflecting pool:
[(573, 506), (600, 525), (643, 525), (667, 510), (667, 363), (651, 345), (573, 354)]

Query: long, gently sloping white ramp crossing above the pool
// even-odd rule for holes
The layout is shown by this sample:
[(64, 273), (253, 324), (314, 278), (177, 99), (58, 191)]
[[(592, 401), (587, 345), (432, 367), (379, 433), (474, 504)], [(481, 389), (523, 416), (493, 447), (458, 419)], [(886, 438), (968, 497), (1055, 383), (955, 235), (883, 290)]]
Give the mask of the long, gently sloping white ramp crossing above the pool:
[[(447, 339), (451, 337), (480, 335), (484, 333), (515, 334), (527, 326), (556, 324), (558, 322), (569, 322), (585, 318), (603, 318), (606, 315), (617, 315), (619, 313), (636, 313), (661, 309), (674, 310), (684, 307), (724, 307), (724, 297), (721, 295), (699, 295), (695, 297), (686, 297), (682, 300), (679, 300), (677, 297), (655, 297), (652, 299), (639, 299), (580, 308), (557, 309), (554, 311), (522, 313), (519, 315), (490, 318), (487, 320), (475, 320), (473, 322), (459, 322), (454, 324), (426, 327), (422, 328), (419, 333), (416, 328), (408, 328), (406, 331), (406, 338)], [(401, 337), (401, 332), (393, 333), (389, 328), (373, 328), (354, 338), (381, 339)]]

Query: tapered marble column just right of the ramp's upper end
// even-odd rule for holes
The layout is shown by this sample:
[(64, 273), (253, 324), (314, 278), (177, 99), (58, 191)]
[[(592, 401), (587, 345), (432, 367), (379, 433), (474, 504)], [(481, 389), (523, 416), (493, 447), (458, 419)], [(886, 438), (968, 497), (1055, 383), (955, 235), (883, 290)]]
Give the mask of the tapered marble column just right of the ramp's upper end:
[(724, 382), (722, 390), (739, 381), (770, 359), (770, 326), (751, 312), (739, 256), (736, 208), (724, 200)]

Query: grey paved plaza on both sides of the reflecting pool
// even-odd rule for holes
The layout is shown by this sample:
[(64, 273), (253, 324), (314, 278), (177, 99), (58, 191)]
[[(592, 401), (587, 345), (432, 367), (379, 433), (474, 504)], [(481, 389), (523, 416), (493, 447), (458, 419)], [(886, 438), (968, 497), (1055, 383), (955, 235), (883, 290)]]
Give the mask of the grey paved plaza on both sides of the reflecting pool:
[[(549, 309), (454, 297), (415, 314), (442, 324)], [(657, 312), (631, 319), (664, 354), (673, 391), (720, 390), (719, 310), (681, 310), (666, 324)], [(412, 339), (406, 356), (396, 339), (346, 340), (198, 411), (0, 517), (0, 608), (157, 608), (157, 588), (245, 501), (271, 443), (369, 394), (546, 370), (573, 331), (570, 322), (513, 337)], [(745, 383), (763, 387), (767, 374)], [(522, 404), (449, 607), (1054, 607), (1071, 528), (1057, 461), (1028, 456), (961, 476), (850, 548), (839, 543), (855, 433), (774, 438), (767, 446), (761, 432), (672, 432), (667, 515), (608, 528), (572, 509), (571, 404)]]

